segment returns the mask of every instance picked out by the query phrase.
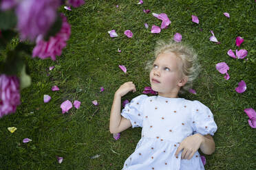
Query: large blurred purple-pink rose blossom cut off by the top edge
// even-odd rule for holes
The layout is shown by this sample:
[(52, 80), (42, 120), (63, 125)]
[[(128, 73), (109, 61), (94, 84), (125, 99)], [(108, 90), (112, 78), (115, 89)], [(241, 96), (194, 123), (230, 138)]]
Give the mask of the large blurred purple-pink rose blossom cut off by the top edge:
[(23, 0), (17, 5), (18, 29), (21, 40), (34, 41), (37, 36), (45, 36), (56, 20), (59, 0)]

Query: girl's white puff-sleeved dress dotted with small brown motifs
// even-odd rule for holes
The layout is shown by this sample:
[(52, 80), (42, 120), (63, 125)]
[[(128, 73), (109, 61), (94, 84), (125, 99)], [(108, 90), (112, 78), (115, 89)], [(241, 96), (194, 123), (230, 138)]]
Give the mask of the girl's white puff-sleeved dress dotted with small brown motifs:
[(181, 159), (181, 151), (175, 157), (176, 149), (187, 136), (213, 136), (217, 130), (211, 110), (200, 101), (140, 95), (121, 114), (133, 128), (142, 127), (142, 137), (122, 170), (204, 169), (198, 151), (190, 160)]

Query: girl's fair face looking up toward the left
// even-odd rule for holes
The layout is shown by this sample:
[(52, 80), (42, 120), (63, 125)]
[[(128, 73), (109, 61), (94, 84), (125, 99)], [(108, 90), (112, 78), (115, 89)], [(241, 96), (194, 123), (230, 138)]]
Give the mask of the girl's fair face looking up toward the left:
[(180, 71), (181, 60), (175, 53), (160, 53), (153, 62), (150, 72), (151, 88), (163, 97), (177, 97), (181, 86), (186, 83)]

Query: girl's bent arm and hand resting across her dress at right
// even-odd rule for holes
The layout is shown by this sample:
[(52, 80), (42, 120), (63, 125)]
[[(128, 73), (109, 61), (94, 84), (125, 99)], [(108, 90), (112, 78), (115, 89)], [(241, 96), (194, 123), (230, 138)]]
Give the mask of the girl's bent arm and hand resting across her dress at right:
[[(175, 156), (182, 151), (182, 159), (190, 160), (198, 149), (206, 155), (211, 155), (215, 151), (215, 142), (210, 134), (202, 136), (202, 134), (193, 134), (186, 137), (178, 147)], [(183, 149), (183, 150), (182, 150)]]

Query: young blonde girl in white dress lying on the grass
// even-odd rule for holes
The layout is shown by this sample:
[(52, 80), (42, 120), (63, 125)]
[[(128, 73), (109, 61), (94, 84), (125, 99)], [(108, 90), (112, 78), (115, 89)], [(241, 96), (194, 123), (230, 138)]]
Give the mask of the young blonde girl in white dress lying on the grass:
[(110, 132), (142, 127), (142, 137), (123, 170), (204, 169), (198, 149), (213, 153), (217, 125), (211, 110), (200, 101), (178, 97), (198, 75), (197, 55), (180, 43), (158, 42), (155, 56), (149, 80), (158, 96), (135, 97), (120, 113), (121, 97), (136, 87), (126, 82), (114, 95)]

